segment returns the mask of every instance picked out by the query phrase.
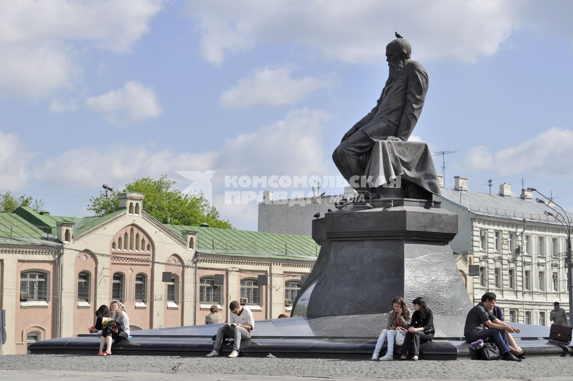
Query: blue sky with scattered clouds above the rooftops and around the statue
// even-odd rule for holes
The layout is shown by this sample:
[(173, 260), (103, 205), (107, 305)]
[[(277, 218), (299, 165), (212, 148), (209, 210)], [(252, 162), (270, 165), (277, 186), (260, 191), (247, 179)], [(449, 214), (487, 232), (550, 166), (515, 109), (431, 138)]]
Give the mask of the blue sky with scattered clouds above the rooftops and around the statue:
[(85, 216), (101, 184), (167, 174), (185, 189), (174, 171), (215, 170), (222, 217), (256, 230), (256, 203), (225, 205), (223, 177), (337, 174), (332, 150), (378, 99), (397, 30), (429, 73), (415, 139), (459, 151), (446, 156), (446, 186), (461, 175), (487, 192), (493, 178), (493, 192), (511, 182), (519, 195), (525, 178), (571, 208), (572, 11), (567, 1), (3, 2), (0, 189)]

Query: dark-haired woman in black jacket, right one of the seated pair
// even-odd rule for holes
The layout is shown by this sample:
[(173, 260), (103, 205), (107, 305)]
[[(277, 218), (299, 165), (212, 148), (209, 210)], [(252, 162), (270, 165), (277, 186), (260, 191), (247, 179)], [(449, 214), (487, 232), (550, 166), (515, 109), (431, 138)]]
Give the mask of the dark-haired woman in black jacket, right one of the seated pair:
[(426, 305), (423, 297), (417, 297), (412, 302), (414, 305), (414, 313), (412, 314), (412, 321), (404, 345), (402, 345), (402, 357), (400, 360), (406, 360), (410, 350), (414, 353), (413, 360), (418, 360), (420, 354), (420, 343), (426, 343), (434, 339), (434, 314), (431, 309)]

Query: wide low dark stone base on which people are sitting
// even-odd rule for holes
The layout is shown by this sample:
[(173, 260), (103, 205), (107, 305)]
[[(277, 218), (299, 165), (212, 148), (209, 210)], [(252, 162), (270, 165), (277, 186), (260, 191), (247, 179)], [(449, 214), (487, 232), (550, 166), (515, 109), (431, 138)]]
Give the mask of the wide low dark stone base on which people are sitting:
[[(387, 314), (327, 316), (317, 318), (292, 317), (257, 320), (249, 340), (241, 341), (241, 356), (278, 357), (343, 357), (370, 359), (376, 338), (387, 322)], [(455, 360), (476, 355), (464, 339), (457, 337), (463, 328), (453, 316), (434, 318), (436, 334), (430, 343), (420, 346), (421, 359)], [(530, 356), (563, 356), (573, 354), (573, 344), (548, 340), (550, 327), (513, 324), (521, 329), (515, 333), (518, 345)], [(113, 355), (205, 356), (213, 349), (211, 336), (221, 324), (180, 326), (133, 331), (129, 340), (114, 342)], [(541, 337), (543, 339), (538, 339)], [(224, 342), (222, 355), (233, 349), (232, 341)], [(30, 344), (32, 354), (68, 353), (95, 355), (100, 345), (97, 334), (62, 337)], [(382, 352), (386, 351), (383, 345)], [(394, 347), (396, 357), (401, 347)]]

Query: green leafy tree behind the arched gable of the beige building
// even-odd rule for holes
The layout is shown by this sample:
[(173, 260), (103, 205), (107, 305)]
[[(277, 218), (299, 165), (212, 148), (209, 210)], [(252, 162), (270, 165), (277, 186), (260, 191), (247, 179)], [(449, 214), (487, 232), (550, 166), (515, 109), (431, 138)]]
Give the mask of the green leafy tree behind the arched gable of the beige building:
[(163, 175), (158, 180), (150, 177), (134, 179), (125, 185), (121, 191), (108, 192), (107, 204), (105, 193), (89, 199), (88, 210), (94, 211), (98, 216), (115, 212), (119, 209), (117, 195), (123, 192), (139, 192), (145, 195), (143, 210), (150, 213), (155, 219), (162, 221), (163, 217), (170, 217), (175, 225), (198, 226), (206, 222), (214, 228), (231, 229), (228, 220), (221, 220), (217, 208), (209, 205), (208, 201), (195, 195), (185, 195), (173, 187), (175, 181)]

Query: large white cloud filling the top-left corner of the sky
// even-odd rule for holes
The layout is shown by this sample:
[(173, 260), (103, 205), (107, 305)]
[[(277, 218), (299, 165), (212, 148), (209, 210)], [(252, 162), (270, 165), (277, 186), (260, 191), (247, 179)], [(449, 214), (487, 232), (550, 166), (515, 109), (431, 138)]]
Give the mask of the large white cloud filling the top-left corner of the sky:
[[(70, 88), (83, 72), (84, 43), (127, 52), (164, 0), (0, 2), (0, 98), (39, 98)], [(84, 48), (84, 46), (82, 46)]]

